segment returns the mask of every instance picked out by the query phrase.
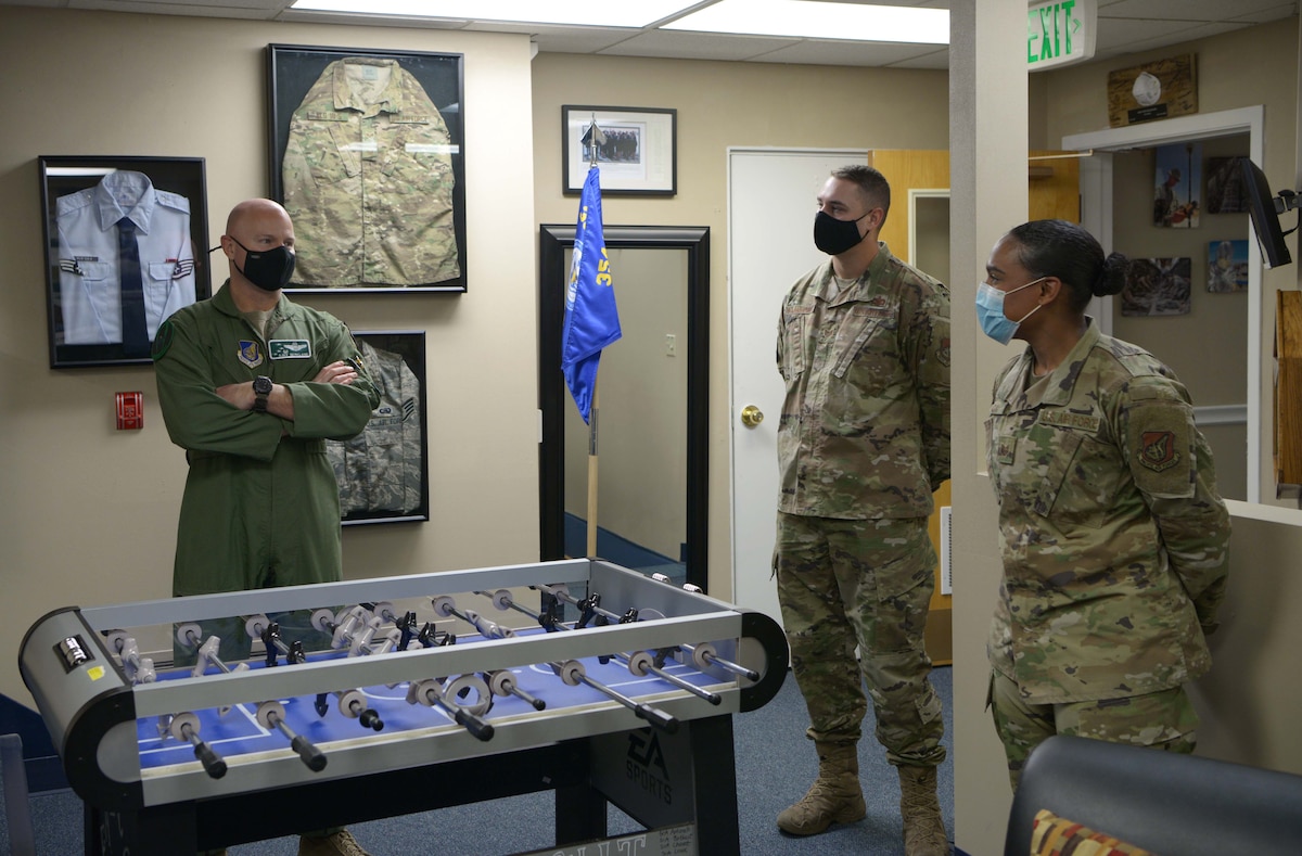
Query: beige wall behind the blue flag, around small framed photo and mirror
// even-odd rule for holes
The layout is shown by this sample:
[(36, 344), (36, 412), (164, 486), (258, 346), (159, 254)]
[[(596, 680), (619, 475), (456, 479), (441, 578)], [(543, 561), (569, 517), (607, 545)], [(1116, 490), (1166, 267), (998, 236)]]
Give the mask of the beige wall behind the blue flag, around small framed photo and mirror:
[[(710, 593), (716, 597), (732, 593), (728, 147), (947, 148), (947, 81), (944, 72), (565, 53), (534, 60), (538, 222), (572, 224), (578, 209), (577, 199), (561, 193), (562, 104), (678, 111), (677, 195), (607, 196), (602, 208), (607, 225), (710, 228)], [(810, 189), (811, 222), (816, 193)]]

